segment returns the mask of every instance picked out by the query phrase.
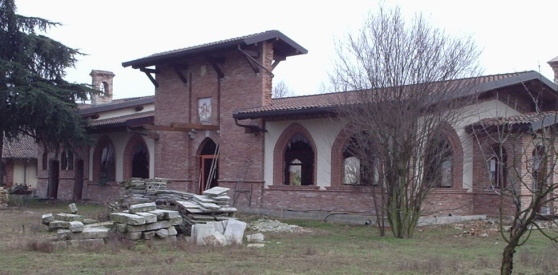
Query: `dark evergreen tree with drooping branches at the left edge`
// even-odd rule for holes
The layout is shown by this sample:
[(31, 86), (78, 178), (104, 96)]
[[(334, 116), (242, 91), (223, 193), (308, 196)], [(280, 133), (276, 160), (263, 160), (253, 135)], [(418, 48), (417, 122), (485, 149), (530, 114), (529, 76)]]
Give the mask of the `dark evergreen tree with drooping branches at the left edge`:
[[(41, 33), (60, 25), (16, 14), (14, 0), (0, 0), (0, 152), (4, 138), (29, 135), (57, 150), (87, 141), (77, 102), (94, 92), (65, 81), (81, 53)], [(3, 185), (0, 162), (0, 185)]]

